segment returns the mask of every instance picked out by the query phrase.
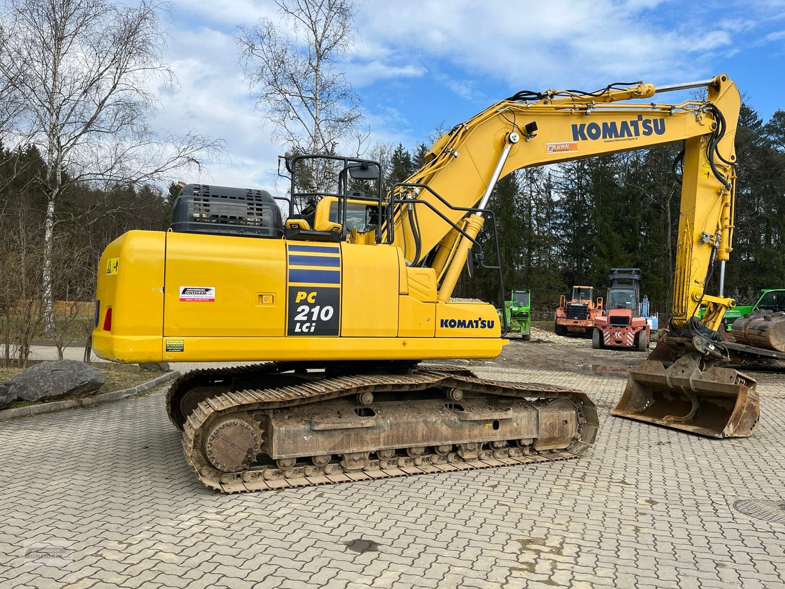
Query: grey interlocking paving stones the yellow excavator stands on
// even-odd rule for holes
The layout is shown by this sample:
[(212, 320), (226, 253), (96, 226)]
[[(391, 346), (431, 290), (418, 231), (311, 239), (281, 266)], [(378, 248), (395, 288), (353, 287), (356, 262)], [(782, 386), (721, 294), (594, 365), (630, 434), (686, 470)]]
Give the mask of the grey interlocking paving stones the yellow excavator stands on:
[[(760, 383), (754, 437), (716, 441), (609, 417), (619, 377), (477, 372), (590, 392), (596, 446), (223, 496), (188, 469), (163, 390), (2, 423), (0, 588), (785, 587), (785, 380)], [(746, 499), (783, 517), (739, 513)], [(25, 558), (46, 545), (60, 560)]]

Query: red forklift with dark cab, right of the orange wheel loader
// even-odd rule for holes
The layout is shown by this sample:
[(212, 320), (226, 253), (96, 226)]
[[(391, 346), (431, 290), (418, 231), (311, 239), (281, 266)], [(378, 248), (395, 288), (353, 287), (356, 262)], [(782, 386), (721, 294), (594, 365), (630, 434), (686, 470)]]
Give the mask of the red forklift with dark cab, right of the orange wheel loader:
[(648, 349), (651, 329), (641, 316), (641, 269), (612, 268), (604, 315), (594, 318), (592, 347)]

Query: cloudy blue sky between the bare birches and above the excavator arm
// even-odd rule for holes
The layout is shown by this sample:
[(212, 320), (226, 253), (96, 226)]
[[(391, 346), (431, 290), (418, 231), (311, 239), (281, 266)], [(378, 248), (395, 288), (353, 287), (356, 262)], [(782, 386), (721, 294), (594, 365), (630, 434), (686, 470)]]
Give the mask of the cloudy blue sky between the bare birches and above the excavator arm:
[[(235, 32), (276, 18), (272, 0), (174, 0), (156, 124), (222, 137), (231, 154), (184, 181), (272, 188), (283, 152), (254, 111)], [(596, 90), (726, 72), (766, 119), (785, 108), (785, 0), (365, 0), (338, 64), (363, 101), (371, 143), (412, 147), (517, 90)], [(683, 96), (663, 96), (680, 101)]]

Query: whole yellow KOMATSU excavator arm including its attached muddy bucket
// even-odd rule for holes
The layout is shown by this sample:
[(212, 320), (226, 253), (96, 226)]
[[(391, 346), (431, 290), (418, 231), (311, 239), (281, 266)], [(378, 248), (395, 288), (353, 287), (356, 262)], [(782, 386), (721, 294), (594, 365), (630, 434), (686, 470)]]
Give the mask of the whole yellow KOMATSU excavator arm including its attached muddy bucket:
[[(707, 88), (706, 100), (630, 102), (694, 87)], [(732, 251), (739, 107), (739, 90), (725, 74), (676, 86), (517, 93), (440, 137), (422, 168), (393, 188), (386, 221), (392, 243), (407, 265), (436, 271), (437, 300), (449, 302), (499, 178), (528, 166), (683, 142), (670, 335), (630, 374), (613, 414), (712, 437), (748, 436), (758, 424), (754, 379), (714, 366), (730, 359), (717, 330), (736, 304), (724, 296), (724, 278)], [(428, 205), (418, 207), (421, 201)], [(708, 294), (715, 261), (720, 288)], [(702, 304), (703, 322), (697, 318)], [(674, 356), (670, 368), (656, 359)]]

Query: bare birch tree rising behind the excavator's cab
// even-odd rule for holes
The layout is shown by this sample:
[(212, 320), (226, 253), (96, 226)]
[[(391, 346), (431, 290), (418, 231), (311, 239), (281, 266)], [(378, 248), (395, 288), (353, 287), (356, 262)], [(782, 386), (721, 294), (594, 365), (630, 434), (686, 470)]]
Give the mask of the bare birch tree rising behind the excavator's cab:
[[(358, 135), (360, 98), (335, 60), (352, 46), (352, 0), (276, 0), (282, 26), (263, 18), (239, 27), (246, 78), (273, 138), (291, 153), (334, 155)], [(360, 147), (358, 146), (358, 152)], [(319, 188), (324, 179), (314, 171)]]

